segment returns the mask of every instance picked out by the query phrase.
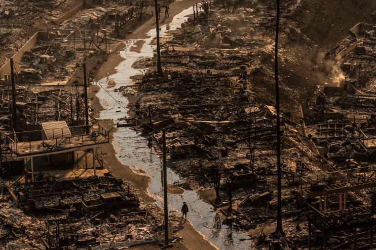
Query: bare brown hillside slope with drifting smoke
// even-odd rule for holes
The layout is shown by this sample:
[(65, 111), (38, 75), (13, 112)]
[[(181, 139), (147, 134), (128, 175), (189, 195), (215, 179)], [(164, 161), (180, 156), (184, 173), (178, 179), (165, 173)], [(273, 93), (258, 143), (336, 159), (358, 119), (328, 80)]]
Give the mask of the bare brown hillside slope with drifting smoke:
[[(305, 104), (317, 86), (338, 86), (343, 79), (339, 69), (340, 62), (326, 56), (343, 38), (350, 35), (349, 30), (359, 22), (375, 23), (372, 13), (376, 1), (342, 0), (297, 2), (294, 10), (281, 15), (279, 34), (279, 75), (281, 109), (291, 113), (297, 122), (299, 105)], [(270, 38), (273, 38), (269, 33)], [(273, 34), (275, 35), (275, 34)], [(262, 63), (268, 69), (265, 75), (253, 80), (261, 83), (259, 93), (263, 99), (275, 102), (274, 52), (271, 45), (268, 56), (259, 52)], [(259, 84), (258, 84), (259, 88)]]

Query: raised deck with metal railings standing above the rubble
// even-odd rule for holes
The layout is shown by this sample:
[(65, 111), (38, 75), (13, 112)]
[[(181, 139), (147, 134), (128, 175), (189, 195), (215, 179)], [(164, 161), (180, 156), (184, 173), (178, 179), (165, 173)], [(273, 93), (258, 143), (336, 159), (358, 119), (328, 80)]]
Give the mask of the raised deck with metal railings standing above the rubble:
[[(23, 138), (25, 134), (43, 134), (45, 130), (19, 132), (7, 136), (8, 148), (17, 159), (46, 156), (51, 154), (60, 154), (78, 150), (97, 148), (101, 144), (109, 143), (109, 132), (101, 125), (93, 125), (89, 133), (84, 133), (84, 126), (70, 127), (72, 132), (70, 136), (58, 136), (61, 128), (52, 128), (48, 131), (55, 136), (52, 139), (43, 139), (37, 141), (18, 142), (17, 138)], [(35, 136), (34, 136), (35, 137)]]

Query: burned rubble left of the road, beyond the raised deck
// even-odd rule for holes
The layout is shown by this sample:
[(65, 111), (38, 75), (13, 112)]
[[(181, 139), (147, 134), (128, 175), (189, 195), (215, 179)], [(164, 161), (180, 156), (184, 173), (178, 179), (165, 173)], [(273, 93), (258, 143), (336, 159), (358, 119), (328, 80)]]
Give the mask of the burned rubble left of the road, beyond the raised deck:
[[(22, 113), (19, 126), (25, 130), (43, 121), (64, 120), (74, 125), (83, 120), (83, 64), (89, 86), (98, 80), (94, 79), (95, 73), (116, 47), (113, 44), (120, 43), (118, 38), (134, 29), (138, 20), (135, 17), (139, 8), (123, 1), (97, 2), (89, 8), (81, 3), (0, 1), (0, 37), (4, 37), (0, 42), (0, 65), (14, 57), (16, 101)], [(75, 8), (81, 11), (67, 14)], [(147, 18), (150, 14), (140, 20)], [(18, 55), (35, 36), (36, 44)], [(10, 69), (0, 72), (0, 126), (6, 131), (10, 127), (11, 75)], [(96, 92), (88, 93), (90, 113)]]

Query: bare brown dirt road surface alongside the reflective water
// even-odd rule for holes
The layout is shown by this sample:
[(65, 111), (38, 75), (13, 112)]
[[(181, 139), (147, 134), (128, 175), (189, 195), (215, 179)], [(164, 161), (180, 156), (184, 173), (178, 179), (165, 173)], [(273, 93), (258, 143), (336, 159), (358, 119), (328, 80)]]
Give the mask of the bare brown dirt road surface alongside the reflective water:
[[(177, 1), (170, 5), (170, 17), (164, 17), (164, 8), (162, 7), (161, 19), (159, 19), (159, 23), (161, 25), (168, 24), (172, 21), (173, 17), (176, 14), (179, 14), (181, 11), (188, 9), (189, 7), (195, 4), (195, 0), (188, 0), (188, 1)], [(151, 10), (150, 10), (151, 12)], [(154, 12), (154, 11), (153, 11)], [(193, 10), (192, 10), (193, 13)], [(139, 28), (133, 31), (131, 34), (127, 35), (125, 40), (127, 39), (139, 39), (139, 38), (147, 38), (147, 32), (150, 31), (155, 27), (155, 17), (150, 18), (148, 21), (144, 22)], [(120, 51), (124, 48), (124, 44), (113, 44), (113, 51)], [(109, 56), (108, 60), (105, 61), (102, 66), (98, 69), (96, 73), (96, 80), (99, 80), (103, 77), (109, 76), (116, 72), (114, 69), (123, 59), (120, 57), (119, 54), (113, 53)], [(99, 90), (100, 87), (92, 85), (91, 91)], [(132, 102), (132, 100), (129, 100)], [(100, 101), (98, 98), (94, 98), (92, 101), (94, 114), (99, 115), (100, 111), (103, 109), (101, 107)], [(114, 132), (116, 131), (115, 121), (103, 121), (101, 122), (109, 131), (110, 136), (114, 136)], [(155, 202), (155, 200), (150, 197), (147, 193), (147, 188), (150, 183), (150, 178), (145, 177), (142, 173), (140, 175), (135, 174), (129, 166), (123, 165), (115, 156), (115, 149), (113, 148), (113, 144), (106, 145), (102, 147), (103, 155), (104, 155), (104, 166), (112, 172), (112, 174), (117, 178), (122, 178), (125, 181), (129, 181), (134, 184), (135, 188), (138, 189), (139, 196), (141, 199), (145, 200), (146, 202)], [(217, 249), (212, 246), (207, 240), (203, 238), (201, 234), (199, 234), (192, 225), (187, 221), (184, 224), (184, 227), (179, 228), (177, 232), (175, 232), (177, 236), (181, 237), (182, 244), (175, 243), (172, 249), (188, 249), (188, 250), (214, 250)], [(150, 248), (147, 249), (154, 249), (154, 246), (149, 246)], [(140, 246), (140, 249), (144, 247)], [(136, 249), (136, 248), (135, 248)]]

